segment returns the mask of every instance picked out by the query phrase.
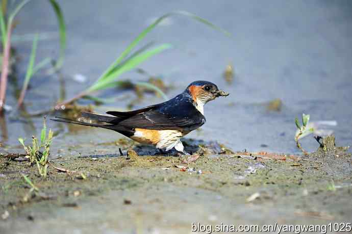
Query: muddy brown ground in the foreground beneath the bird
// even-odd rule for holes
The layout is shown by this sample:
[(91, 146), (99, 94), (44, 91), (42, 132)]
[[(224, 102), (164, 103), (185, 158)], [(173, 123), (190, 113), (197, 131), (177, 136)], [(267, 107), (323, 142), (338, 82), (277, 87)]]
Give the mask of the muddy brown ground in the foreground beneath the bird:
[[(191, 233), (192, 222), (351, 221), (351, 155), (344, 148), (299, 157), (232, 152), (216, 142), (185, 144), (193, 158), (160, 155), (124, 139), (99, 143), (94, 154), (50, 160), (47, 178), (29, 162), (2, 157), (1, 233)], [(110, 147), (123, 155), (107, 154)], [(185, 163), (194, 155), (199, 158)]]

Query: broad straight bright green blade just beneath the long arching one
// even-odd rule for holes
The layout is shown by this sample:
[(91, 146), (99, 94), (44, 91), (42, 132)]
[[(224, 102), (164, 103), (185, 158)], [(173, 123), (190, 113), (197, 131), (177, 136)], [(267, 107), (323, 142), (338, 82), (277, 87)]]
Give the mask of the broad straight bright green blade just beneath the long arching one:
[(87, 92), (92, 92), (92, 91), (97, 91), (104, 89), (105, 87), (110, 87), (110, 84), (115, 82), (115, 79), (121, 75), (124, 72), (130, 71), (136, 66), (138, 66), (140, 63), (144, 62), (148, 58), (161, 53), (161, 51), (170, 48), (170, 44), (162, 44), (160, 46), (157, 46), (153, 49), (149, 49), (147, 51), (144, 51), (143, 53), (139, 54), (138, 56), (135, 56), (133, 58), (129, 58), (126, 60), (122, 66), (119, 66), (118, 69), (115, 69), (114, 71), (111, 71), (108, 76), (105, 77), (103, 81), (99, 81), (95, 84), (93, 84), (90, 88), (88, 88)]

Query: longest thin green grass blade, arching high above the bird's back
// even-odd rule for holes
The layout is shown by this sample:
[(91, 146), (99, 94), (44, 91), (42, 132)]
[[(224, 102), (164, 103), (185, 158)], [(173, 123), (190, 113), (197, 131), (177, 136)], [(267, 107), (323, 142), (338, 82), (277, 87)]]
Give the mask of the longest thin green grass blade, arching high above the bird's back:
[(187, 17), (190, 17), (192, 19), (195, 19), (199, 22), (202, 22), (206, 25), (208, 25), (209, 27), (215, 29), (215, 30), (218, 30), (222, 33), (224, 33), (225, 35), (227, 36), (231, 36), (231, 34), (227, 31), (225, 31), (224, 29), (216, 26), (215, 24), (209, 22), (208, 20), (204, 19), (204, 18), (201, 18), (199, 16), (196, 16), (192, 13), (189, 13), (187, 11), (175, 11), (175, 12), (170, 12), (170, 13), (167, 13), (161, 17), (159, 17), (158, 19), (156, 19), (152, 24), (150, 24), (146, 29), (144, 29), (132, 42), (131, 44), (128, 45), (128, 47), (122, 51), (121, 55), (115, 60), (115, 62), (113, 62), (109, 68), (99, 77), (98, 81), (101, 81), (101, 80), (105, 80), (107, 79), (107, 74), (111, 72), (111, 70), (113, 70), (124, 58), (126, 58), (130, 52), (132, 51), (132, 49), (138, 44), (138, 42), (140, 40), (142, 40), (150, 31), (152, 31), (155, 27), (157, 27), (157, 25), (163, 21), (165, 18), (167, 17), (170, 17), (172, 15), (184, 15), (184, 16), (187, 16)]

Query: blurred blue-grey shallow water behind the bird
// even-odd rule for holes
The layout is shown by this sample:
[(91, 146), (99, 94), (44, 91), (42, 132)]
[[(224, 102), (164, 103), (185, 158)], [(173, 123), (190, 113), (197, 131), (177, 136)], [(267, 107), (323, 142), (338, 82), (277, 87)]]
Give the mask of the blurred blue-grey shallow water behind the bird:
[[(15, 71), (9, 77), (1, 118), (3, 146), (17, 147), (18, 137), (39, 133), (42, 116), (60, 97), (71, 98), (91, 86), (121, 52), (158, 17), (185, 10), (205, 18), (232, 37), (192, 18), (174, 15), (163, 20), (137, 46), (170, 43), (120, 81), (162, 81), (171, 98), (189, 83), (206, 80), (230, 93), (207, 104), (207, 123), (187, 138), (214, 140), (233, 150), (299, 153), (294, 142), (294, 118), (310, 114), (311, 122), (329, 121), (321, 134), (334, 131), (337, 144), (352, 141), (352, 2), (350, 1), (57, 1), (66, 24), (65, 59), (61, 69), (36, 73), (23, 101), (26, 115), (16, 108), (39, 33), (37, 61), (59, 55), (57, 17), (50, 3), (31, 1), (16, 17), (13, 41)], [(27, 36), (26, 36), (27, 35)], [(26, 39), (27, 38), (27, 39)], [(17, 95), (17, 96), (16, 96)], [(162, 102), (154, 93), (112, 88), (92, 94), (114, 98), (94, 112), (137, 109)], [(140, 97), (140, 98), (138, 98)], [(64, 99), (65, 99), (64, 98)], [(80, 106), (92, 101), (78, 100)], [(23, 110), (21, 111), (23, 112)], [(39, 113), (39, 115), (33, 115)], [(70, 142), (105, 142), (121, 136), (102, 129), (68, 128), (48, 121), (57, 147)], [(328, 130), (328, 131), (326, 131)], [(307, 150), (318, 144), (303, 139)]]

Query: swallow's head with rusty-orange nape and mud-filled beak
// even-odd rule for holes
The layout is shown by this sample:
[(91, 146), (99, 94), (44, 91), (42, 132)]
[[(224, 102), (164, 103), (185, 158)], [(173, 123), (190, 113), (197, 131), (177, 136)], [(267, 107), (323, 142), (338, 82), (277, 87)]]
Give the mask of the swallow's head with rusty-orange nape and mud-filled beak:
[(209, 81), (195, 81), (192, 82), (186, 89), (195, 103), (207, 103), (208, 101), (214, 100), (219, 96), (228, 96), (229, 93), (225, 93), (219, 90), (217, 86)]

